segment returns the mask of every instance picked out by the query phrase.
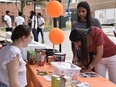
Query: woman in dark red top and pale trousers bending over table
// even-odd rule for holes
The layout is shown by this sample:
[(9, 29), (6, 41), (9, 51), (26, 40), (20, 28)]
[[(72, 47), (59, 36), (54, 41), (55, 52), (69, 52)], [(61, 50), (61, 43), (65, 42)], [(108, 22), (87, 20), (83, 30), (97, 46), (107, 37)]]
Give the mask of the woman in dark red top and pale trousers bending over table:
[[(98, 27), (89, 30), (73, 29), (70, 41), (81, 49), (81, 72), (89, 72), (95, 67), (95, 72), (105, 77), (108, 69), (109, 80), (116, 84), (116, 45)], [(90, 62), (89, 52), (94, 52)]]

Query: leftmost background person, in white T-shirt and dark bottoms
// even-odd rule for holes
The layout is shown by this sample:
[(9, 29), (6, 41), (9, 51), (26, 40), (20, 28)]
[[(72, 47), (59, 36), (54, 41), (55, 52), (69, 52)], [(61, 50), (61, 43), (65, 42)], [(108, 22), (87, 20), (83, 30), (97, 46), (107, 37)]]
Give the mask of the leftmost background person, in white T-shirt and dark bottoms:
[(12, 28), (12, 19), (10, 17), (10, 11), (6, 11), (6, 15), (4, 16), (4, 22), (5, 22), (5, 28), (6, 28), (6, 32), (7, 31), (13, 31), (13, 28)]

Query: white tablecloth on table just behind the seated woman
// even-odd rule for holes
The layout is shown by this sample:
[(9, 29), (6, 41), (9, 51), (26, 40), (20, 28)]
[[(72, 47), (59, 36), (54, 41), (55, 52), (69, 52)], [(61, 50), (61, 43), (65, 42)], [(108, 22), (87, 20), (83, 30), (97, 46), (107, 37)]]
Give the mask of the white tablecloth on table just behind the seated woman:
[(22, 48), (22, 57), (24, 60), (27, 60), (27, 51), (37, 49), (47, 49), (47, 46), (39, 42), (31, 41), (31, 43), (26, 48)]

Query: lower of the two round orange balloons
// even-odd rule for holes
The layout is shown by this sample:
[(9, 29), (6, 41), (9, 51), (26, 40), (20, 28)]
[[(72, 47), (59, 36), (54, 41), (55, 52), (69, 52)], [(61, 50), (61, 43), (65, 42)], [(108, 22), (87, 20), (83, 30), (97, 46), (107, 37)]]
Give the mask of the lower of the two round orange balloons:
[(64, 41), (64, 32), (59, 28), (53, 28), (49, 32), (49, 39), (53, 44), (61, 44)]

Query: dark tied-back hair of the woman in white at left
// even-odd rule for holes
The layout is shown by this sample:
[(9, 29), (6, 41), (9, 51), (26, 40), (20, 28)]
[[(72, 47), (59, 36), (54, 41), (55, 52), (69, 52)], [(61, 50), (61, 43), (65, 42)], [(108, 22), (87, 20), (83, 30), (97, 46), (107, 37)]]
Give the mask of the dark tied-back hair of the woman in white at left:
[(14, 29), (11, 35), (11, 39), (12, 41), (15, 41), (23, 36), (28, 37), (30, 35), (30, 32), (31, 28), (28, 25), (19, 25)]

